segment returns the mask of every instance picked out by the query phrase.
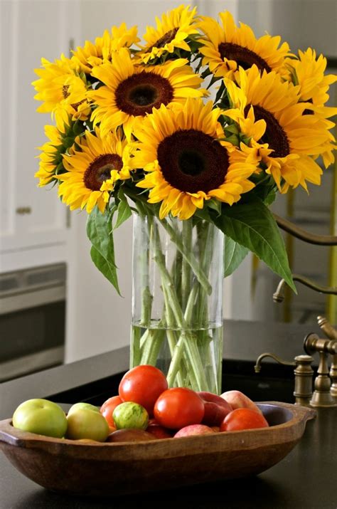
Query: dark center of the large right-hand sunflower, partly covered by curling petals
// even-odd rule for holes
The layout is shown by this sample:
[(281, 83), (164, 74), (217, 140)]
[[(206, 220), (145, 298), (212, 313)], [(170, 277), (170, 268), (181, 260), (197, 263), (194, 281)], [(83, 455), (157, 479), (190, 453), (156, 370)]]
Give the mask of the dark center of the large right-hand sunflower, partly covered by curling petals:
[[(250, 110), (250, 105), (245, 107), (245, 115)], [(286, 157), (290, 152), (289, 140), (283, 127), (279, 125), (277, 119), (268, 110), (263, 107), (254, 105), (255, 120), (264, 120), (266, 122), (266, 130), (264, 135), (259, 140), (260, 143), (267, 143), (269, 148), (274, 152), (270, 157)]]

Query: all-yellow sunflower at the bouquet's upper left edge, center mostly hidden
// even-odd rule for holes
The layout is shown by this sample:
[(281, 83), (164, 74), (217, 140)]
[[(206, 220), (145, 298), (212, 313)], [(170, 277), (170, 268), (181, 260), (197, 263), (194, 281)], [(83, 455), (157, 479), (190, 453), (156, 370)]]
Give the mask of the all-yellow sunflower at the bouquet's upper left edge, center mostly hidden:
[(38, 92), (34, 99), (43, 101), (37, 111), (55, 114), (56, 122), (67, 122), (69, 115), (74, 120), (86, 120), (90, 114), (87, 88), (75, 63), (64, 55), (53, 63), (42, 58), (41, 63), (43, 68), (35, 69), (40, 79), (32, 83)]

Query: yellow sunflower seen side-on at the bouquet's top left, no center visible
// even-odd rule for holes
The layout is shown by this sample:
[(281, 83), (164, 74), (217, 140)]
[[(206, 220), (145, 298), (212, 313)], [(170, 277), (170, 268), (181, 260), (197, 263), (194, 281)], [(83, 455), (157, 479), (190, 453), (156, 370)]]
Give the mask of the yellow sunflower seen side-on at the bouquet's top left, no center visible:
[(139, 42), (137, 37), (137, 26), (127, 28), (125, 23), (119, 27), (112, 26), (111, 35), (109, 31), (105, 30), (102, 37), (95, 39), (95, 44), (90, 41), (85, 41), (83, 47), (78, 46), (76, 51), (73, 51), (72, 61), (74, 61), (86, 74), (90, 74), (93, 67), (101, 65), (106, 61), (111, 61), (112, 54), (119, 51), (120, 48), (132, 46), (132, 44)]

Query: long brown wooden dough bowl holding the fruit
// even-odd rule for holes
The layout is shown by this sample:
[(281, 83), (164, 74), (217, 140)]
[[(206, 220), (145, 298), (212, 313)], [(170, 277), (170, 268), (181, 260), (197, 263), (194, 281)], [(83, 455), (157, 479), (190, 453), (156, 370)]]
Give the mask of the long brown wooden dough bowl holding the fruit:
[(315, 411), (259, 404), (269, 428), (138, 443), (85, 443), (27, 433), (0, 421), (0, 448), (24, 476), (50, 490), (122, 495), (252, 476), (287, 456)]

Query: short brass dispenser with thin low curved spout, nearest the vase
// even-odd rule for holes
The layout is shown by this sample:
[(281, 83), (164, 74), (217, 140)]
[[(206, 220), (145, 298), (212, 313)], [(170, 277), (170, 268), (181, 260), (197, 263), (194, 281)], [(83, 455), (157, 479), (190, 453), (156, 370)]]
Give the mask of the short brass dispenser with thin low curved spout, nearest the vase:
[(279, 362), (279, 364), (283, 364), (284, 366), (294, 366), (294, 374), (295, 374), (295, 389), (294, 389), (294, 397), (296, 405), (310, 406), (311, 396), (312, 396), (312, 377), (314, 371), (311, 369), (311, 362), (313, 362), (313, 357), (310, 355), (297, 355), (294, 361), (289, 362), (280, 359), (277, 355), (274, 355), (269, 352), (264, 352), (259, 357), (257, 357), (257, 361), (255, 364), (255, 372), (260, 373), (261, 371), (261, 362), (264, 357), (272, 357), (272, 359)]

